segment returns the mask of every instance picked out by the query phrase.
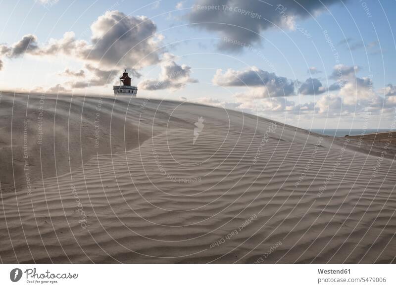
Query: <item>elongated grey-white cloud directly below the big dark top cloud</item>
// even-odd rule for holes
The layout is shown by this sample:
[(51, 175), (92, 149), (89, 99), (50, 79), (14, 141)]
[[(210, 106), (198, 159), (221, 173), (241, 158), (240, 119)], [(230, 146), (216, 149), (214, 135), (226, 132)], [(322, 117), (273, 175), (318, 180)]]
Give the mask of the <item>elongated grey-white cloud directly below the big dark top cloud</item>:
[(254, 94), (260, 98), (295, 94), (295, 83), (293, 81), (255, 66), (244, 71), (228, 69), (224, 74), (221, 69), (218, 69), (212, 83), (218, 86), (257, 87)]

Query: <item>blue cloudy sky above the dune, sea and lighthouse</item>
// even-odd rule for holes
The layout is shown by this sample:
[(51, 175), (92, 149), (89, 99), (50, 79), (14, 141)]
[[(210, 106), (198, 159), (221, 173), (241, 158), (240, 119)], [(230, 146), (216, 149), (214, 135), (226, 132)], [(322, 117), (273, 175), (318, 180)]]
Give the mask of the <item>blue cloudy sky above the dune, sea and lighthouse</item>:
[(0, 90), (198, 102), (396, 128), (395, 1), (0, 0)]

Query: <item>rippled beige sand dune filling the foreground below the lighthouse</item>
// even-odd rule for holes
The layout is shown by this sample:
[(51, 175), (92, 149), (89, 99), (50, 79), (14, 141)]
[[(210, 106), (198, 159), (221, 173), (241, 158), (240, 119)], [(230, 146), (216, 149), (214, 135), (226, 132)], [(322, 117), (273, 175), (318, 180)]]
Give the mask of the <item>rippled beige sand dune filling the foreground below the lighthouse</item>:
[(143, 98), (3, 93), (0, 121), (3, 263), (395, 262), (386, 142)]

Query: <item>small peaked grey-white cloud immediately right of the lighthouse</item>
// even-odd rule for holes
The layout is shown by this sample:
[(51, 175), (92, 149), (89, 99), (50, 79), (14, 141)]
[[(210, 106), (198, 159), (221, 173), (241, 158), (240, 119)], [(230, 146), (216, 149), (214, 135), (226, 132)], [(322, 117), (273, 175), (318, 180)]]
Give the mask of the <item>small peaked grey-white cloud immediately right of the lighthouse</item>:
[(165, 53), (159, 78), (144, 80), (139, 84), (139, 87), (144, 90), (180, 89), (187, 83), (198, 82), (190, 78), (191, 67), (176, 64), (174, 58), (174, 55)]

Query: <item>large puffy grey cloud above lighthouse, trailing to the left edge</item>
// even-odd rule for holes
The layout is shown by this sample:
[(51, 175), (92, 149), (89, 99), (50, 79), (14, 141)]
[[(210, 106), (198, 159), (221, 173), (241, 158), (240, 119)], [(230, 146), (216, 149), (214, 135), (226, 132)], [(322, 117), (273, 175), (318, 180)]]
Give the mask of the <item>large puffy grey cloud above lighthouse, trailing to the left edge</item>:
[(164, 52), (158, 47), (163, 39), (156, 34), (156, 25), (145, 16), (127, 16), (119, 11), (107, 11), (91, 25), (91, 43), (76, 40), (73, 32), (61, 39), (51, 39), (39, 47), (37, 37), (25, 35), (11, 47), (0, 46), (1, 54), (15, 58), (23, 53), (55, 56), (62, 53), (105, 69), (124, 69), (139, 75), (137, 69), (159, 63)]

